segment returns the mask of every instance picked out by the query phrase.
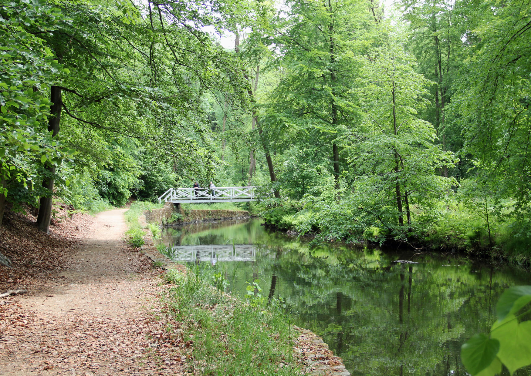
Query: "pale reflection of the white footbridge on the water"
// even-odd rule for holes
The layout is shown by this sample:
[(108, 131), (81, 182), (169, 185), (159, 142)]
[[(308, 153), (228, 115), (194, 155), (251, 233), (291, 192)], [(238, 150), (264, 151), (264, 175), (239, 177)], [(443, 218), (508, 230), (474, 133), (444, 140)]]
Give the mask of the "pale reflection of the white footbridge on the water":
[(174, 261), (254, 261), (254, 244), (212, 244), (209, 246), (173, 246), (168, 249), (169, 257)]

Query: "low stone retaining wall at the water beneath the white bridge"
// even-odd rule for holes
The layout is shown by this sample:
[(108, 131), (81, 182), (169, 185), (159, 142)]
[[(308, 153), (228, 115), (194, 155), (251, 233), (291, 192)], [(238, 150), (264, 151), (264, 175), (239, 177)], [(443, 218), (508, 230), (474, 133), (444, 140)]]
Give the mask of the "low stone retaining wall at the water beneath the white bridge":
[(218, 210), (218, 209), (204, 209), (204, 210), (183, 210), (173, 203), (166, 203), (161, 209), (147, 210), (144, 212), (145, 221), (148, 223), (162, 223), (163, 220), (172, 218), (173, 213), (182, 215), (182, 219), (175, 223), (191, 223), (201, 222), (205, 220), (221, 220), (224, 218), (238, 218), (247, 217), (249, 212), (244, 210)]

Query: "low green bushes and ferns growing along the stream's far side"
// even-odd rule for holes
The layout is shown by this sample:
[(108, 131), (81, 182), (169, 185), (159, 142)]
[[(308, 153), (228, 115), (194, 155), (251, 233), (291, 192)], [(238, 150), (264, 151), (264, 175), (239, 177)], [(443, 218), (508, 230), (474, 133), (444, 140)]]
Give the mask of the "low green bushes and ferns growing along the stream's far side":
[[(305, 205), (306, 203), (306, 205)], [(265, 223), (280, 231), (294, 231), (299, 237), (319, 242), (371, 243), (375, 246), (398, 245), (415, 249), (460, 252), (468, 257), (509, 261), (529, 266), (531, 261), (531, 223), (526, 217), (513, 216), (513, 203), (478, 213), (456, 200), (440, 203), (426, 212), (412, 207), (409, 228), (352, 210), (342, 202), (331, 204), (269, 200), (259, 205)], [(489, 215), (490, 214), (490, 215)]]

